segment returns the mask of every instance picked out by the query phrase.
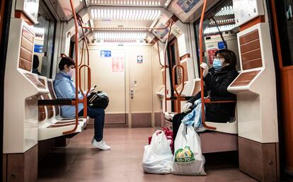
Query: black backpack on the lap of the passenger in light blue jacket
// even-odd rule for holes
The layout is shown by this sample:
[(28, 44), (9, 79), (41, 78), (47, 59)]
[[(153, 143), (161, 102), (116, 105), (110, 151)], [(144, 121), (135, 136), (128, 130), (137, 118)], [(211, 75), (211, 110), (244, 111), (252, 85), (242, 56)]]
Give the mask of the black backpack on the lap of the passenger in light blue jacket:
[(88, 106), (93, 108), (107, 108), (109, 104), (109, 98), (107, 94), (103, 91), (98, 91), (96, 93), (92, 92), (90, 96), (88, 96)]

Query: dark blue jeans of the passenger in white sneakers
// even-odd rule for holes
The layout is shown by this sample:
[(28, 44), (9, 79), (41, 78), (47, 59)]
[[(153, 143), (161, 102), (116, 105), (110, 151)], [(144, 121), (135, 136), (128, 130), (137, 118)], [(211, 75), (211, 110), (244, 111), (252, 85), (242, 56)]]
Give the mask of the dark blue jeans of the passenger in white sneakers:
[[(79, 116), (84, 115), (84, 109), (79, 111)], [(103, 108), (91, 108), (88, 107), (88, 116), (90, 118), (95, 119), (94, 128), (95, 128), (95, 135), (94, 138), (97, 142), (103, 140), (103, 130), (104, 130), (104, 123), (105, 123), (105, 110)]]

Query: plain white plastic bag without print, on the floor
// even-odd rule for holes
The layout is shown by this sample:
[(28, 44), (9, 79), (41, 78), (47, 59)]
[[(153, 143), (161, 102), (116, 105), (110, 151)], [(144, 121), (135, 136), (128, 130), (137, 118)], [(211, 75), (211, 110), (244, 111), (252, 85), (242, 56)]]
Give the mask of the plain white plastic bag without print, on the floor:
[[(159, 133), (157, 135), (157, 133)], [(151, 138), (151, 144), (144, 146), (142, 168), (146, 173), (169, 174), (173, 164), (170, 143), (163, 131), (157, 130)]]

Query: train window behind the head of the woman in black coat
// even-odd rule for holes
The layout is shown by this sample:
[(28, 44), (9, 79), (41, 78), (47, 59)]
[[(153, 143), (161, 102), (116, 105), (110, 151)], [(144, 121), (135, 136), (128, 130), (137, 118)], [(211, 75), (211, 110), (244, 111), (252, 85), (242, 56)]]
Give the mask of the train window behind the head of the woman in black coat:
[[(207, 63), (209, 67), (212, 67), (212, 62), (214, 60), (214, 52), (221, 49), (229, 49), (235, 52), (237, 55), (237, 66), (239, 70), (239, 50), (237, 45), (238, 28), (235, 27), (235, 16), (233, 9), (233, 1), (226, 0), (221, 1), (220, 4), (215, 6), (211, 11), (205, 15), (205, 20), (203, 25), (203, 52), (204, 58), (203, 62)], [(200, 72), (199, 67), (199, 29), (200, 20), (194, 23), (195, 37), (197, 45), (197, 60), (198, 60), (198, 72)]]

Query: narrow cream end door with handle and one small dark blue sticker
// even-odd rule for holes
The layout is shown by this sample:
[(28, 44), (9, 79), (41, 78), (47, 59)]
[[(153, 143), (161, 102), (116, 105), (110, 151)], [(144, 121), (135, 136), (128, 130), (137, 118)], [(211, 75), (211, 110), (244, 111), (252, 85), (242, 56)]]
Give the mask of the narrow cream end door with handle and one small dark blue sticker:
[(127, 51), (132, 127), (151, 127), (153, 120), (151, 46), (131, 46)]

